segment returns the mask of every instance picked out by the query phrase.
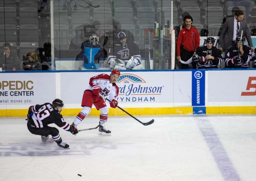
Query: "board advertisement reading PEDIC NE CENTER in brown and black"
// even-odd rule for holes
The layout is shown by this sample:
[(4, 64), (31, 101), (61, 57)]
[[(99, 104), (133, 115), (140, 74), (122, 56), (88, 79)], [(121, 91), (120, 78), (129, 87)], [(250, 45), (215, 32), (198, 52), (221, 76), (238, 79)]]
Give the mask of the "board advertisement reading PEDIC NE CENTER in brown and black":
[(0, 106), (41, 104), (55, 98), (55, 73), (1, 73)]

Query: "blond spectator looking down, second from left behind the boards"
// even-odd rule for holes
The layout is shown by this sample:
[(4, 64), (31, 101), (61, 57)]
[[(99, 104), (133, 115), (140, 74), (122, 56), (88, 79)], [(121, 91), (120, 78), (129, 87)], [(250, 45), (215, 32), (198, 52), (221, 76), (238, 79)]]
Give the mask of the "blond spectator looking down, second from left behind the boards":
[(36, 52), (28, 52), (26, 60), (23, 60), (23, 69), (25, 71), (41, 71), (42, 65), (38, 61)]

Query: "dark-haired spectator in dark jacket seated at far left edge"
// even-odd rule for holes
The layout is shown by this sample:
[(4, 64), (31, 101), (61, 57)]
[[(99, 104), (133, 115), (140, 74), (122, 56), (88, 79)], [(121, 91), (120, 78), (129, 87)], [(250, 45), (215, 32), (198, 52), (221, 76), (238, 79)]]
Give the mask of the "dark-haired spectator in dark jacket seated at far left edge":
[(0, 68), (3, 71), (19, 71), (20, 60), (16, 53), (13, 53), (11, 44), (3, 45), (3, 54), (0, 56)]

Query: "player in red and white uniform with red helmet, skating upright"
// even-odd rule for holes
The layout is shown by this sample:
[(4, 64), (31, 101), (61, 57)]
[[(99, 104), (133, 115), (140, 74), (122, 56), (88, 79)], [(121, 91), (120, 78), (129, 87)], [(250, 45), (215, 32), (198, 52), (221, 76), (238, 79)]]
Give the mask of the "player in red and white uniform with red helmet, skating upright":
[(99, 96), (109, 96), (111, 108), (117, 107), (117, 100), (115, 99), (118, 96), (119, 89), (115, 82), (120, 76), (120, 71), (113, 69), (110, 75), (100, 74), (90, 78), (89, 87), (85, 89), (83, 93), (83, 99), (81, 106), (83, 110), (77, 114), (73, 125), (77, 127), (83, 119), (90, 114), (92, 109), (92, 104), (96, 107), (97, 110), (100, 110), (100, 127), (99, 135), (111, 135), (111, 131), (105, 128), (109, 109), (106, 106), (105, 100)]

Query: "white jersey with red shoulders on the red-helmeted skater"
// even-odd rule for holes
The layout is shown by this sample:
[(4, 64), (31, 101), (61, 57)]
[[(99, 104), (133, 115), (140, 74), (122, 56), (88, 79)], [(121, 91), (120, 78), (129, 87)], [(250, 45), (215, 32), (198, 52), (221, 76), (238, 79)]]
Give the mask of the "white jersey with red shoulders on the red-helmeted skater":
[(87, 90), (92, 90), (94, 85), (100, 86), (100, 93), (103, 96), (109, 96), (110, 100), (115, 99), (119, 94), (119, 88), (115, 83), (110, 83), (110, 76), (107, 74), (100, 74), (90, 78), (90, 86)]

